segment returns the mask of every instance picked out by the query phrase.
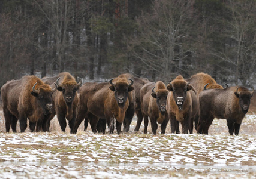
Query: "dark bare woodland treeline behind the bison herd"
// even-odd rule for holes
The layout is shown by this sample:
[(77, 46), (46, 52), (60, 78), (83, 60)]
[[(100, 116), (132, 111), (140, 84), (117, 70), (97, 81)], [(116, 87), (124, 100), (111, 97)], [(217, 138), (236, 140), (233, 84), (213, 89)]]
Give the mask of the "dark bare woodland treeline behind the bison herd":
[(0, 0), (0, 87), (70, 72), (256, 84), (255, 0)]

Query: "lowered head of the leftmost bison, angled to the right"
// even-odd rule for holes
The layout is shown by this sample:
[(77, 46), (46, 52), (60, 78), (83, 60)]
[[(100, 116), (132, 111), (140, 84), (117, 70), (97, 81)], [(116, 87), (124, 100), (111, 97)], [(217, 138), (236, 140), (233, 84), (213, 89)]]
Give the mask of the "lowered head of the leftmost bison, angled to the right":
[(46, 85), (41, 85), (35, 89), (35, 85), (37, 85), (37, 82), (32, 87), (31, 94), (34, 95), (34, 97), (36, 97), (39, 101), (44, 115), (47, 115), (52, 109), (52, 94), (56, 88), (51, 89), (50, 87), (46, 87)]

